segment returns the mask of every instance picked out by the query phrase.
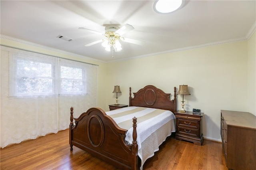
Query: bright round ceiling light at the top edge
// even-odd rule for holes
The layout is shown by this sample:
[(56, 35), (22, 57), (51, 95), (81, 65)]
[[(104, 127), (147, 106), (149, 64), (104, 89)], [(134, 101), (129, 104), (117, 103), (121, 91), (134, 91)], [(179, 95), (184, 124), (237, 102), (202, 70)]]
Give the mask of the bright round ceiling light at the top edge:
[(154, 10), (160, 14), (174, 12), (185, 4), (185, 0), (158, 0), (154, 3)]

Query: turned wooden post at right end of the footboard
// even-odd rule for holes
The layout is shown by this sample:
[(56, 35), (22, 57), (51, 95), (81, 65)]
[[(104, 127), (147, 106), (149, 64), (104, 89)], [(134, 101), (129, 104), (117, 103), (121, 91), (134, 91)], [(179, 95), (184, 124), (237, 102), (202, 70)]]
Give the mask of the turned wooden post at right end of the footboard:
[(138, 169), (138, 144), (137, 144), (137, 118), (134, 117), (132, 118), (132, 127), (133, 127), (133, 132), (132, 132), (132, 170), (137, 170)]

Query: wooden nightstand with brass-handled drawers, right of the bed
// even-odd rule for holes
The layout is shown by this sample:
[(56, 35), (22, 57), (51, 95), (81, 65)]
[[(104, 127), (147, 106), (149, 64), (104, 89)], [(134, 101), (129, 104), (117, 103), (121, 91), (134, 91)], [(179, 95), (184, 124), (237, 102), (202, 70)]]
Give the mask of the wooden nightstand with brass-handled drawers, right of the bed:
[(202, 134), (202, 116), (201, 114), (193, 114), (193, 112), (186, 111), (186, 113), (175, 112), (176, 116), (176, 135), (175, 138), (179, 140), (188, 140), (197, 145), (202, 145), (204, 137)]

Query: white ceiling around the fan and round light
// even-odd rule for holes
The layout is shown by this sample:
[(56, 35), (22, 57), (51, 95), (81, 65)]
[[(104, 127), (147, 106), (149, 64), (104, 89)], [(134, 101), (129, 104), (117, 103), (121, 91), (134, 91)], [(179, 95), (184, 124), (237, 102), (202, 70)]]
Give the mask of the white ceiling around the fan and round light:
[[(180, 10), (170, 14), (154, 12), (154, 2), (1, 0), (0, 33), (101, 61), (113, 61), (246, 38), (255, 26), (255, 0), (186, 0)], [(132, 25), (134, 30), (124, 37), (142, 40), (145, 44), (121, 42), (122, 51), (115, 52), (114, 58), (101, 43), (84, 46), (103, 36), (79, 27), (104, 33), (109, 24)], [(59, 35), (74, 40), (56, 38)]]

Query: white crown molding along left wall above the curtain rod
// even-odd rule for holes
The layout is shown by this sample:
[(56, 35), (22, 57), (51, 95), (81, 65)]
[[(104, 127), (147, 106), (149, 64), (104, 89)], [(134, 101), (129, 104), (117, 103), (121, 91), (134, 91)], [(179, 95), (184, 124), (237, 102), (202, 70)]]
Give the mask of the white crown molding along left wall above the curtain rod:
[[(65, 55), (72, 55), (74, 57), (80, 57), (80, 58), (83, 58), (83, 59), (89, 59), (89, 60), (93, 60), (93, 61), (99, 61), (99, 62), (102, 62), (102, 63), (106, 63), (106, 61), (102, 61), (102, 60), (99, 60), (99, 59), (94, 59), (94, 58), (87, 57), (87, 56), (84, 56), (84, 55), (70, 53), (68, 51), (63, 51), (63, 50), (60, 50), (60, 49), (55, 49), (55, 48), (44, 46), (44, 45), (40, 45), (40, 44), (37, 44), (37, 43), (27, 42), (25, 40), (20, 40), (18, 38), (9, 37), (9, 36), (5, 36), (5, 35), (2, 35), (2, 34), (0, 34), (0, 38), (5, 39), (5, 40), (10, 40), (10, 41), (13, 41), (13, 42), (18, 42), (18, 43), (26, 44), (26, 45), (31, 45), (31, 46), (34, 46), (34, 47), (39, 47), (39, 48), (42, 48), (42, 49), (51, 50), (51, 51), (54, 51), (54, 52), (63, 53)], [(0, 44), (2, 44), (2, 43), (0, 43)], [(10, 46), (10, 45), (7, 45), (7, 46), (14, 47), (14, 46)], [(19, 49), (22, 49), (22, 48), (19, 48)], [(24, 49), (24, 50), (28, 50), (28, 49)], [(35, 51), (32, 51), (32, 52), (35, 52)]]

